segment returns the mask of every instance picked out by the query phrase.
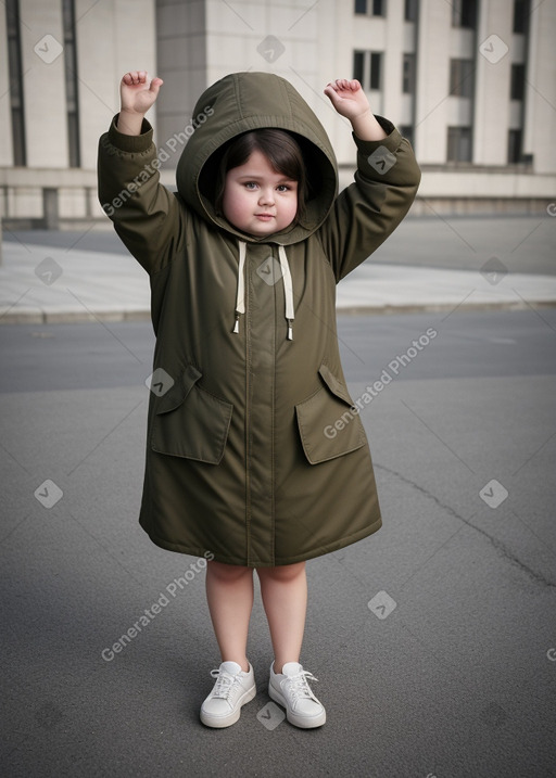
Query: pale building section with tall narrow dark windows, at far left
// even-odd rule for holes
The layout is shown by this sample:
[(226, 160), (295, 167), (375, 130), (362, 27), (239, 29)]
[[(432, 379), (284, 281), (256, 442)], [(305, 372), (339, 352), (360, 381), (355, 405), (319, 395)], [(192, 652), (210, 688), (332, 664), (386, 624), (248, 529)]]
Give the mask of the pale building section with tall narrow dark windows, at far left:
[(0, 41), (4, 227), (103, 218), (98, 140), (118, 110), (122, 74), (156, 67), (155, 3), (4, 0)]

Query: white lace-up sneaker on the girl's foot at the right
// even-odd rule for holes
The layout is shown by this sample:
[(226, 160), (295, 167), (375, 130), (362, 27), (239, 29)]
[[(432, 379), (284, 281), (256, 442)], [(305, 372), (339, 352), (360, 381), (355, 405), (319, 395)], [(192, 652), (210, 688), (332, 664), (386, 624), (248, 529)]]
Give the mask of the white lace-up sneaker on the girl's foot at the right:
[(326, 722), (325, 707), (312, 692), (307, 678), (318, 680), (299, 662), (287, 662), (281, 673), (274, 672), (274, 662), (270, 665), (269, 696), (286, 707), (290, 724), (303, 729), (321, 727)]

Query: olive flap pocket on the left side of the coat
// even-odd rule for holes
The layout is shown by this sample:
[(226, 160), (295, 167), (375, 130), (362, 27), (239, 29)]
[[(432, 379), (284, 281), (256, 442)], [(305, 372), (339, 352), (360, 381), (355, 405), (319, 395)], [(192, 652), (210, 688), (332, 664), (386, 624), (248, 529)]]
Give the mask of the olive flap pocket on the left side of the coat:
[(154, 411), (151, 448), (159, 454), (218, 464), (233, 406), (198, 385), (202, 373), (188, 365)]

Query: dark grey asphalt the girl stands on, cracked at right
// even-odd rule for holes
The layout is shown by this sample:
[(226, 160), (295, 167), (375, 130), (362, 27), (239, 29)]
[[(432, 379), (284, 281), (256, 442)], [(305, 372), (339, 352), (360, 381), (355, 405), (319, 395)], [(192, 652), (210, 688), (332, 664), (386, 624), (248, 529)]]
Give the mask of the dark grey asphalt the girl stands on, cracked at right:
[(177, 587), (195, 560), (137, 524), (150, 328), (0, 328), (3, 775), (554, 776), (555, 333), (553, 309), (341, 317), (383, 527), (307, 563), (328, 722), (269, 703), (257, 597), (258, 694), (218, 731), (204, 574)]

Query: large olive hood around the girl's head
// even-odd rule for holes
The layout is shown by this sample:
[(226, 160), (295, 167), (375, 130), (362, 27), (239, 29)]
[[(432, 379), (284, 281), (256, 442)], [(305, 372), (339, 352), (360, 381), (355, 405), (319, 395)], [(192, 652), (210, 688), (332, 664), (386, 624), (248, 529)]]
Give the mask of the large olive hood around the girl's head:
[[(338, 167), (325, 128), (301, 94), (271, 73), (232, 73), (199, 98), (193, 112), (194, 132), (181, 153), (177, 189), (201, 218), (247, 242), (290, 245), (306, 239), (326, 219), (338, 193)], [(309, 196), (303, 225), (255, 238), (236, 229), (214, 209), (216, 170), (227, 141), (242, 132), (273, 127), (292, 132), (307, 170)]]

